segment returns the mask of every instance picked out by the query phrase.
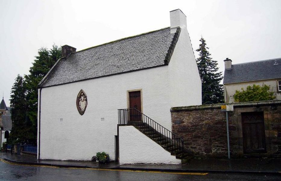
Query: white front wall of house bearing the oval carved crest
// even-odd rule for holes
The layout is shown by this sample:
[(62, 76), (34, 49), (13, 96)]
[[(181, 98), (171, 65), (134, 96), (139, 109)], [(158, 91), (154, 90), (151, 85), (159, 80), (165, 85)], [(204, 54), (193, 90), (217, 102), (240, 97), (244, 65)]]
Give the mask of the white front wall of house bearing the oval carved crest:
[[(171, 129), (167, 77), (168, 66), (161, 66), (42, 88), (40, 159), (90, 160), (99, 151), (114, 159), (117, 109), (127, 108), (127, 90), (142, 89), (144, 114)], [(81, 89), (88, 101), (83, 116), (76, 108)]]

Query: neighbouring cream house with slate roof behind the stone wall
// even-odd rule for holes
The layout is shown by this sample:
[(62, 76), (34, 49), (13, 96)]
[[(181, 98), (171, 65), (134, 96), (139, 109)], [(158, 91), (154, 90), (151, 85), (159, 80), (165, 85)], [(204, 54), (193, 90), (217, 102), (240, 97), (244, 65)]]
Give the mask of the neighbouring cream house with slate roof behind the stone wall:
[(233, 64), (232, 60), (224, 60), (223, 76), (224, 95), (226, 103), (233, 103), (236, 90), (253, 84), (270, 86), (276, 100), (281, 100), (281, 58)]

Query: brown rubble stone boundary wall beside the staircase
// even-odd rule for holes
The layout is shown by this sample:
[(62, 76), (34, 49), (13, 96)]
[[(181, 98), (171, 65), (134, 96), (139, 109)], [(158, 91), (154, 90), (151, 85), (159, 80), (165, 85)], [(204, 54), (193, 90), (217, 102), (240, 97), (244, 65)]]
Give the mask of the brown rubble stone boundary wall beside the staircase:
[(197, 157), (227, 157), (226, 112), (221, 105), (233, 105), (228, 112), (231, 157), (244, 157), (243, 112), (263, 111), (266, 153), (264, 157), (281, 157), (281, 101), (258, 101), (172, 107), (172, 132), (184, 139), (185, 151)]

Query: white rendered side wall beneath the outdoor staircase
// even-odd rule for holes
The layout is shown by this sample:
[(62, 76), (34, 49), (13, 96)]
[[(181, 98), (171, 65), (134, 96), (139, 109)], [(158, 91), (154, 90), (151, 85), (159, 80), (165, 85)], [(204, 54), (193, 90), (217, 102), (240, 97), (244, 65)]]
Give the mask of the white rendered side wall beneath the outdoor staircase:
[(181, 160), (134, 126), (119, 126), (119, 163), (181, 164)]

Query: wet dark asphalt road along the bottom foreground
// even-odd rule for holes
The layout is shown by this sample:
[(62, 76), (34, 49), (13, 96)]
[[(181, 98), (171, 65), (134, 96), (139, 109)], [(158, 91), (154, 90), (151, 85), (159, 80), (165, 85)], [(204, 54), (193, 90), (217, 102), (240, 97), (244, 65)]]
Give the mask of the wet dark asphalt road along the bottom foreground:
[[(0, 180), (281, 180), (277, 175), (253, 175), (253, 174), (213, 174), (201, 175), (171, 174), (157, 172), (113, 171), (94, 169), (58, 168), (46, 166), (27, 166), (9, 164), (0, 161)], [(197, 173), (195, 173), (197, 174)]]

